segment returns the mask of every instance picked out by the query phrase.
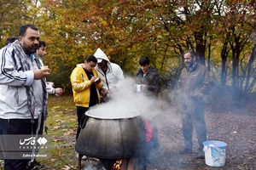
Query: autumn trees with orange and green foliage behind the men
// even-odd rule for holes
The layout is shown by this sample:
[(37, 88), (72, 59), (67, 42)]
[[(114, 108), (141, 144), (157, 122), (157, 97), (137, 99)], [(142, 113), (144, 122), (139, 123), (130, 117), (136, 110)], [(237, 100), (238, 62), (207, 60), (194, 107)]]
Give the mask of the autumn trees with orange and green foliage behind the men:
[(255, 8), (253, 0), (0, 0), (0, 47), (21, 25), (37, 26), (47, 43), (48, 81), (66, 94), (73, 68), (96, 48), (127, 77), (148, 55), (163, 97), (175, 88), (183, 51), (193, 49), (211, 72), (212, 94), (228, 91), (234, 105), (244, 105), (255, 99)]

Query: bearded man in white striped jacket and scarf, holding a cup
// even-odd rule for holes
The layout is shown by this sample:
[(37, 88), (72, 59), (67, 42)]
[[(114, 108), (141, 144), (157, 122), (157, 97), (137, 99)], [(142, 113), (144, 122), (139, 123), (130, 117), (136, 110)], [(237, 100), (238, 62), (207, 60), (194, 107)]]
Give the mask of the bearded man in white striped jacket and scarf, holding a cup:
[[(50, 70), (42, 69), (35, 56), (38, 43), (38, 28), (26, 24), (20, 27), (18, 40), (0, 50), (0, 125), (2, 134), (5, 135), (2, 144), (6, 154), (6, 170), (26, 169), (30, 157), (21, 159), (23, 153), (29, 153), (32, 160), (36, 153), (35, 150), (25, 152), (15, 145), (19, 144), (21, 137), (9, 140), (7, 136), (37, 136), (41, 119), (47, 116), (45, 78), (50, 74)], [(15, 150), (9, 150), (9, 145)], [(15, 154), (12, 154), (13, 151)], [(15, 156), (14, 159), (11, 156)]]

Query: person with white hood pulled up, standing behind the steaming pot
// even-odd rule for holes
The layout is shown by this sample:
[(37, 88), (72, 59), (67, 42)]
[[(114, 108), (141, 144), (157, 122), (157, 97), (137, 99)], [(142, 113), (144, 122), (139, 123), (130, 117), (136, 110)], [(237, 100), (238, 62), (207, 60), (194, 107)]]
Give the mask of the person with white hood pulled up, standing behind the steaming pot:
[(124, 73), (119, 65), (110, 62), (101, 48), (97, 48), (94, 56), (97, 59), (96, 71), (102, 79), (103, 87), (100, 90), (102, 102), (108, 101), (107, 94), (119, 88), (119, 83), (125, 80)]

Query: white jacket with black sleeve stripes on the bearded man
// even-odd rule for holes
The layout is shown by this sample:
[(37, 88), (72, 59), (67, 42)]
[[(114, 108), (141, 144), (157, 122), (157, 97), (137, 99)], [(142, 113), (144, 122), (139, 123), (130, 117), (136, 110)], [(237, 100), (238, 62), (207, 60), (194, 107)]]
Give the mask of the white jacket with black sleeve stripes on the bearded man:
[(0, 49), (0, 118), (31, 119), (27, 105), (26, 86), (32, 86), (35, 96), (34, 118), (43, 112), (43, 86), (41, 80), (34, 80), (38, 70), (35, 56), (27, 56), (30, 71), (21, 71), (20, 59), (12, 45)]

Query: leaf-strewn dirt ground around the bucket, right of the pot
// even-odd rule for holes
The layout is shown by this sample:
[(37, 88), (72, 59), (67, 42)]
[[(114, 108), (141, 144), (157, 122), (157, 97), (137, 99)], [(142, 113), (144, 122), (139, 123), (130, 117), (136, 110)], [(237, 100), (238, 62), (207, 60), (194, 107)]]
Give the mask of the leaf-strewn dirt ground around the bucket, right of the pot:
[[(161, 148), (155, 153), (148, 170), (156, 169), (256, 169), (256, 107), (207, 108), (207, 140), (223, 141), (227, 144), (224, 167), (209, 167), (205, 160), (195, 159), (198, 148), (194, 133), (193, 154), (180, 155), (183, 146), (182, 125), (177, 113), (163, 111), (157, 117)], [(168, 123), (169, 122), (169, 123)]]

